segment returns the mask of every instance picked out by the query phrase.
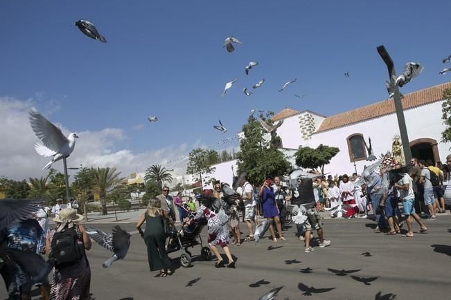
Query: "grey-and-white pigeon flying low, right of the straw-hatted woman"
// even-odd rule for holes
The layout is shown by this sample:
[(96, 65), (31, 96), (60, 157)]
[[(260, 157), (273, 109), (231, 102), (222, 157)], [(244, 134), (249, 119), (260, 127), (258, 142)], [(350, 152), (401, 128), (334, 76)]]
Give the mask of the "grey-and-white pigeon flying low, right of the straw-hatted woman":
[(114, 252), (114, 254), (102, 264), (103, 268), (108, 268), (115, 261), (123, 259), (125, 255), (127, 255), (128, 248), (130, 247), (130, 234), (118, 225), (114, 226), (112, 234), (92, 229), (87, 230), (87, 233), (100, 246)]

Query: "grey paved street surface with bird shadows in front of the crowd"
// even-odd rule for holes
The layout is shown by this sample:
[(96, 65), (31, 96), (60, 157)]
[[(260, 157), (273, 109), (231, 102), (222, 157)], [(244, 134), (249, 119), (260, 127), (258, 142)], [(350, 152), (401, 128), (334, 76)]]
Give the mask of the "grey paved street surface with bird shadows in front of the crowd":
[[(285, 231), (287, 241), (283, 243), (264, 238), (258, 245), (251, 242), (231, 246), (237, 261), (234, 270), (216, 269), (214, 261), (196, 258), (191, 268), (182, 268), (178, 263), (180, 252), (172, 253), (170, 257), (176, 270), (166, 278), (149, 272), (143, 240), (133, 234), (126, 259), (111, 268), (101, 267), (109, 252), (98, 245), (88, 252), (91, 292), (98, 300), (259, 299), (265, 292), (283, 285), (276, 299), (450, 299), (450, 223), (450, 216), (439, 216), (439, 220), (427, 222), (427, 234), (403, 238), (375, 234), (375, 223), (362, 218), (326, 219), (324, 232), (332, 241), (330, 247), (320, 249), (314, 242), (315, 252), (304, 253), (291, 227)], [(91, 226), (109, 231), (113, 224)], [(121, 226), (130, 232), (136, 230), (133, 223)], [(200, 247), (194, 247), (191, 252), (200, 254)], [(370, 252), (371, 256), (362, 256), (363, 252)], [(306, 268), (312, 269), (310, 273), (300, 272)], [(337, 276), (328, 268), (360, 271)], [(365, 285), (351, 275), (378, 278)], [(186, 286), (193, 279), (199, 280), (193, 286)], [(267, 283), (249, 287), (260, 280)], [(333, 290), (308, 296), (298, 289), (299, 283)], [(5, 298), (6, 291), (1, 285), (0, 299)]]

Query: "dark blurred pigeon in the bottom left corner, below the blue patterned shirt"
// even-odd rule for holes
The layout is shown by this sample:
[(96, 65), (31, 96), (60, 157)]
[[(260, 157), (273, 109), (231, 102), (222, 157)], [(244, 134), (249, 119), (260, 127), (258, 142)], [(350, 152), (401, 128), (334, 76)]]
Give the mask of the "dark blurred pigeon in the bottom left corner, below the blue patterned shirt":
[(55, 259), (44, 261), (39, 254), (8, 248), (0, 250), (0, 261), (13, 265), (14, 269), (19, 268), (24, 273), (13, 279), (23, 294), (28, 294), (35, 284), (46, 283), (48, 274), (55, 266)]

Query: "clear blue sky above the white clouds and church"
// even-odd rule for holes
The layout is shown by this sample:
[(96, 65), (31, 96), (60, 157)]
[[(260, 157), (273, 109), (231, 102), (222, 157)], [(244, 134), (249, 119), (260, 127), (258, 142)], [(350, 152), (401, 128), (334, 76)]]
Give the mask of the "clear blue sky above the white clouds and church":
[[(71, 131), (123, 129), (115, 150), (186, 143), (188, 151), (240, 131), (254, 108), (333, 115), (386, 99), (380, 44), (398, 73), (406, 62), (425, 66), (403, 93), (447, 82), (451, 74), (438, 72), (451, 55), (450, 8), (450, 1), (388, 0), (1, 1), (0, 97), (33, 98), (44, 112), (56, 105), (48, 117)], [(78, 19), (93, 22), (108, 43), (82, 35)], [(222, 48), (229, 35), (245, 42), (233, 53)], [(260, 65), (246, 76), (250, 61)], [(242, 93), (262, 78), (254, 95)], [(218, 118), (230, 134), (212, 128)]]

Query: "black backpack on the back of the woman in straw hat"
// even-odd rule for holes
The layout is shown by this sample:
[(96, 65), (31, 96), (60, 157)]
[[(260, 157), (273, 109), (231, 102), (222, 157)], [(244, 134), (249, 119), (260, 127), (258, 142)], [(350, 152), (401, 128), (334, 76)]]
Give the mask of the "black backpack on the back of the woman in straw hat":
[(83, 243), (78, 243), (75, 227), (55, 232), (51, 243), (50, 257), (55, 259), (57, 267), (77, 263), (85, 255)]

